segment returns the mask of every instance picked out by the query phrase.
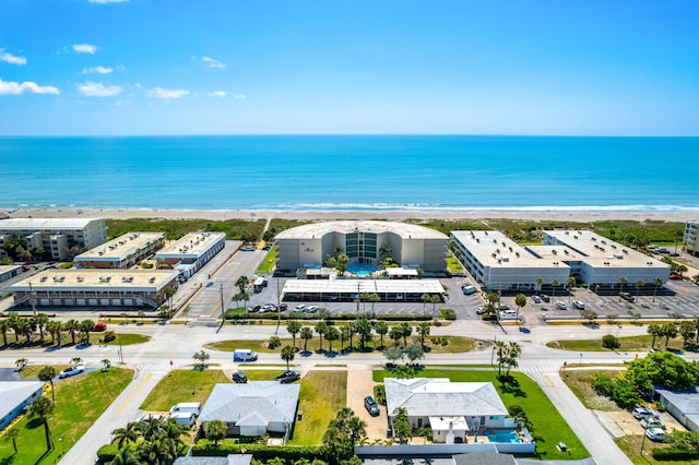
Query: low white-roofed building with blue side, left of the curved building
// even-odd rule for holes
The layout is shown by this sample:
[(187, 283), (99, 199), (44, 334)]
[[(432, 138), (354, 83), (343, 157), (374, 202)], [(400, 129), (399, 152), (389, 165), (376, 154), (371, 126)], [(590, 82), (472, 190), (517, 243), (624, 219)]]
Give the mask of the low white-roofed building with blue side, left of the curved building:
[(190, 233), (155, 254), (158, 269), (189, 278), (226, 247), (224, 233)]

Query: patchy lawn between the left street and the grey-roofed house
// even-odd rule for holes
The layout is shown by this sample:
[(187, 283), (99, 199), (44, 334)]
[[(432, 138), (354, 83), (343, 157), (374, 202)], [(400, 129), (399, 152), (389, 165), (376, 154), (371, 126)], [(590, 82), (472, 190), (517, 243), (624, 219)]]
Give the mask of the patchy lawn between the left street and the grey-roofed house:
[(215, 384), (230, 382), (223, 371), (214, 368), (173, 370), (157, 383), (140, 408), (150, 412), (168, 412), (173, 405), (180, 402), (204, 404)]

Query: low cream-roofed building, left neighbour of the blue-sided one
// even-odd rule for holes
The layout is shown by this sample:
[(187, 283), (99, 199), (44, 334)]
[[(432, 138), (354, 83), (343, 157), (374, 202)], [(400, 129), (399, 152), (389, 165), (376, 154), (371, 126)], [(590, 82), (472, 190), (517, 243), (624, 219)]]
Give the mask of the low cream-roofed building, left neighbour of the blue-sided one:
[(129, 233), (73, 259), (83, 269), (128, 269), (165, 245), (164, 233)]

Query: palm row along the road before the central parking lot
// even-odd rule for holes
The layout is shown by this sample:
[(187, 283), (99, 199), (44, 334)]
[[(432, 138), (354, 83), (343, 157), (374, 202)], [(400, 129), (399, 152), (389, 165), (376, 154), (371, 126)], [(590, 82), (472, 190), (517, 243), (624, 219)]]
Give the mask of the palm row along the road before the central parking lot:
[[(367, 344), (374, 341), (374, 333), (380, 338), (380, 347), (383, 347), (383, 336), (387, 334), (393, 339), (395, 347), (399, 346), (401, 339), (403, 341), (403, 346), (406, 346), (407, 337), (413, 334), (413, 326), (408, 323), (389, 326), (384, 321), (371, 323), (366, 317), (362, 317), (341, 326), (334, 326), (325, 322), (325, 320), (321, 320), (311, 327), (301, 324), (299, 321), (289, 320), (286, 323), (286, 331), (292, 335), (294, 348), (296, 348), (296, 336), (298, 335), (304, 341), (304, 351), (308, 351), (308, 341), (313, 338), (315, 332), (319, 336), (320, 350), (323, 349), (323, 341), (325, 341), (329, 344), (329, 351), (332, 353), (334, 341), (340, 341), (340, 349), (344, 350), (344, 343), (348, 342), (348, 347), (353, 346), (354, 336), (358, 336), (359, 349), (364, 350)], [(429, 336), (429, 332), (430, 325), (427, 322), (417, 326), (416, 333), (420, 338), (422, 345), (425, 345), (425, 337)]]

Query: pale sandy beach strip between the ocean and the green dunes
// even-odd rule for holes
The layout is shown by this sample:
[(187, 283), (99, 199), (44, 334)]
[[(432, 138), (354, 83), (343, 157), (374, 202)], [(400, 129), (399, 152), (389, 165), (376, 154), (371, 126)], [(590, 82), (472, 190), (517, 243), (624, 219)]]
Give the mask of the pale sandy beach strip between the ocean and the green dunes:
[(699, 212), (661, 211), (612, 211), (612, 210), (162, 210), (162, 208), (16, 208), (8, 215), (11, 218), (163, 218), (163, 219), (299, 219), (299, 220), (339, 220), (339, 219), (522, 219), (522, 220), (570, 220), (594, 223), (599, 220), (696, 220)]

